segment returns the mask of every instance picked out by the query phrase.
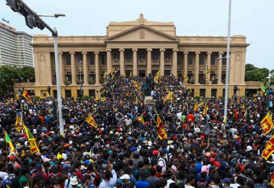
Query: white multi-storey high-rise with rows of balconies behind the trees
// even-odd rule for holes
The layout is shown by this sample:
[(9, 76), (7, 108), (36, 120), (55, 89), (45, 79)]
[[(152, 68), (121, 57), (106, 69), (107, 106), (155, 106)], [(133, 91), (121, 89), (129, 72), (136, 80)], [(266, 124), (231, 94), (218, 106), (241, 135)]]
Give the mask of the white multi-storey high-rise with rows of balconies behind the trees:
[(33, 67), (32, 36), (0, 20), (0, 65)]

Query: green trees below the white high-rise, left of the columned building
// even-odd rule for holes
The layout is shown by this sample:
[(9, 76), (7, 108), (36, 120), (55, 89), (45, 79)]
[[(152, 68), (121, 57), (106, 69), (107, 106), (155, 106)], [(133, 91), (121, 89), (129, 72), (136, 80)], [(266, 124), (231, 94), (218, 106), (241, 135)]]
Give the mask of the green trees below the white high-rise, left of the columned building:
[(12, 67), (8, 65), (0, 66), (0, 96), (13, 91), (13, 83), (35, 82), (33, 67)]

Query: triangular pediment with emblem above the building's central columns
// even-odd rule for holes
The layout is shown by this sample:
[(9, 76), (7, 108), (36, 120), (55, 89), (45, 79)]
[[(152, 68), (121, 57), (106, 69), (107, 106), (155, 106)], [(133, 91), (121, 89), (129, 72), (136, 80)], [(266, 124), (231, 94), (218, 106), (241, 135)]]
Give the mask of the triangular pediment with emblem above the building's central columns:
[(153, 29), (146, 25), (138, 25), (126, 31), (120, 32), (104, 39), (105, 42), (121, 42), (121, 41), (166, 41), (179, 42), (179, 39), (161, 31)]

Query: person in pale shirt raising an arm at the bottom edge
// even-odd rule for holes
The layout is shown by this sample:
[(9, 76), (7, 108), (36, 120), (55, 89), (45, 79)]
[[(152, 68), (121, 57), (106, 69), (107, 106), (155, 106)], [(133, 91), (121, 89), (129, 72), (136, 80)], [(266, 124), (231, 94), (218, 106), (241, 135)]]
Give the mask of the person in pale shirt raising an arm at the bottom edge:
[(115, 186), (117, 182), (117, 175), (116, 172), (112, 169), (110, 162), (108, 162), (108, 169), (104, 171), (103, 177), (104, 180), (100, 183), (99, 188), (111, 188)]

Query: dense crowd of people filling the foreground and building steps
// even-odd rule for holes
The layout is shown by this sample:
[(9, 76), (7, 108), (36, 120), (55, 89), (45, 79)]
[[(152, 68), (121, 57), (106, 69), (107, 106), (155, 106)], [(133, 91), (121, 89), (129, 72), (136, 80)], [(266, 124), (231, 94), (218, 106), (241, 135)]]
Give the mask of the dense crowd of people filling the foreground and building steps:
[[(260, 127), (272, 113), (272, 98), (229, 98), (224, 120), (224, 99), (189, 100), (183, 78), (162, 76), (153, 82), (112, 74), (99, 99), (63, 100), (69, 109), (63, 137), (46, 99), (27, 104), (22, 121), (39, 152), (31, 153), (27, 135), (16, 129), (14, 103), (9, 98), (0, 103), (1, 188), (273, 188), (273, 156), (261, 157), (273, 131), (263, 136)], [(152, 91), (156, 112), (144, 108)], [(164, 99), (168, 92), (172, 100)], [(155, 113), (167, 139), (158, 137)], [(89, 114), (96, 128), (85, 122)], [(201, 131), (206, 125), (209, 134)]]

